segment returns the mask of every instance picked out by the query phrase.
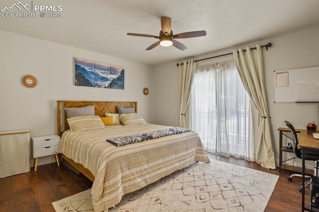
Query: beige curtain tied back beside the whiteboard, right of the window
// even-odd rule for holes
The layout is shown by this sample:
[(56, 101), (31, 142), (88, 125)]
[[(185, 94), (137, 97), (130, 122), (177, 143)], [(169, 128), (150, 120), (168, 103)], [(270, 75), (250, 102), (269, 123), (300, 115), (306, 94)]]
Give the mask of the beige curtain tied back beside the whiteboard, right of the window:
[(260, 45), (256, 50), (233, 50), (236, 67), (244, 87), (259, 113), (256, 162), (262, 167), (276, 169), (273, 141), (265, 91), (264, 63)]

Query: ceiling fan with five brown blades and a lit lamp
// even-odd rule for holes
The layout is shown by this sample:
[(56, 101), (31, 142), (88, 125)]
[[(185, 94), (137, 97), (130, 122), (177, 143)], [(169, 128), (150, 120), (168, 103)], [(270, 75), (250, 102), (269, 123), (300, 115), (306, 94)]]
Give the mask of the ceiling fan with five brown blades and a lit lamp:
[(160, 24), (161, 24), (161, 30), (160, 30), (160, 35), (147, 35), (147, 34), (138, 34), (138, 33), (128, 33), (128, 35), (133, 35), (133, 36), (141, 36), (141, 37), (154, 37), (157, 39), (160, 39), (158, 42), (153, 43), (151, 46), (149, 46), (146, 50), (151, 50), (155, 48), (158, 45), (161, 46), (174, 46), (177, 49), (180, 49), (184, 51), (187, 49), (187, 47), (176, 41), (175, 39), (180, 39), (180, 38), (190, 38), (190, 37), (200, 37), (200, 36), (205, 36), (206, 31), (192, 31), (192, 32), (183, 32), (183, 33), (178, 33), (178, 34), (173, 34), (173, 31), (171, 30), (171, 19), (169, 17), (164, 17), (162, 16), (160, 19)]

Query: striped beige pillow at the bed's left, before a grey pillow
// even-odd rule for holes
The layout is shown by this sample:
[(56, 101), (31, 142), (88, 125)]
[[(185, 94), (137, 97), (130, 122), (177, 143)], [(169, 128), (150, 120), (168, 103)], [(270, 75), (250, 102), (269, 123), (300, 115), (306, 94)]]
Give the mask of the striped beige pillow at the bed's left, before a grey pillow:
[(66, 119), (71, 131), (102, 129), (105, 125), (98, 115), (81, 115)]

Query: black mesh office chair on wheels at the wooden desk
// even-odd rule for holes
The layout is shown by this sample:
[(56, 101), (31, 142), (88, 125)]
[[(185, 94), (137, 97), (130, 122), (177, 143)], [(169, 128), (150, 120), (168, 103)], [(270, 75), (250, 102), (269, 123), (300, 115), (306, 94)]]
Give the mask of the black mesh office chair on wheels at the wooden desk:
[[(296, 157), (302, 159), (303, 155), (302, 155), (302, 149), (299, 148), (299, 143), (298, 143), (298, 137), (297, 137), (297, 132), (295, 130), (295, 127), (289, 122), (289, 121), (285, 121), (285, 124), (287, 125), (287, 127), (289, 128), (291, 134), (293, 135), (293, 140), (294, 140), (294, 153), (296, 155)], [(316, 176), (318, 176), (318, 160), (319, 160), (319, 154), (318, 154), (318, 150), (314, 150), (314, 151), (307, 151), (307, 154), (305, 155), (305, 160), (312, 160), (315, 161), (315, 167), (316, 167)], [(289, 181), (293, 180), (293, 177), (303, 177), (303, 175), (301, 174), (292, 174), (291, 176), (289, 176), (287, 179)], [(305, 175), (306, 178), (310, 178), (311, 176), (309, 175)], [(310, 180), (305, 182), (305, 187), (310, 184)], [(303, 189), (303, 185), (301, 187), (298, 188), (298, 190), (300, 192), (302, 192)]]

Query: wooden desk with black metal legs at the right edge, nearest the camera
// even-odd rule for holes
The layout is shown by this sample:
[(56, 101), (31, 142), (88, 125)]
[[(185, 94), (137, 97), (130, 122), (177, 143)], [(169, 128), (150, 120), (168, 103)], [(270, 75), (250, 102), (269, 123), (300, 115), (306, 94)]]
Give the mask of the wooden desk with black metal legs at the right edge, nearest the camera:
[[(303, 154), (303, 184), (305, 185), (305, 153), (310, 149), (317, 149), (319, 153), (319, 140), (315, 139), (313, 136), (313, 132), (319, 131), (307, 131), (306, 129), (300, 130), (299, 137), (299, 147), (302, 148)], [(310, 211), (314, 212), (310, 208), (305, 208), (305, 187), (303, 186), (303, 195), (302, 195), (302, 211)]]

